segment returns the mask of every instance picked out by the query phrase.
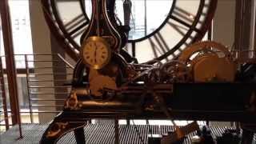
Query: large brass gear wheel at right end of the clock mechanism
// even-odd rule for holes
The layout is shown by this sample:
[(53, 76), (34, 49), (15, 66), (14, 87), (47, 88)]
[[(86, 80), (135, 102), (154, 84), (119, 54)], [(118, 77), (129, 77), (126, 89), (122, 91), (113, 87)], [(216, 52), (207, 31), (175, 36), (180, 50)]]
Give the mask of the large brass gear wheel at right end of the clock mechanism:
[(178, 58), (189, 66), (194, 82), (233, 82), (236, 65), (226, 46), (218, 42), (197, 42)]

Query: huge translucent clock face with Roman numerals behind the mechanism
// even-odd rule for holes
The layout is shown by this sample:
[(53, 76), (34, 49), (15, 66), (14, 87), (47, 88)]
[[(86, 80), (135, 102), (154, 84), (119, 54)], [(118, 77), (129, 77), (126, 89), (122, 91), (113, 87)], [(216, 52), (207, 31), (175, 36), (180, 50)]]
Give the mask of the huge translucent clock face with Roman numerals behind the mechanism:
[[(123, 23), (122, 0), (115, 13)], [(214, 16), (217, 0), (131, 0), (129, 43), (125, 49), (138, 62), (178, 57), (201, 40)], [(91, 0), (42, 0), (50, 30), (72, 58), (79, 58), (80, 37), (90, 22)], [(69, 10), (67, 10), (69, 9)]]

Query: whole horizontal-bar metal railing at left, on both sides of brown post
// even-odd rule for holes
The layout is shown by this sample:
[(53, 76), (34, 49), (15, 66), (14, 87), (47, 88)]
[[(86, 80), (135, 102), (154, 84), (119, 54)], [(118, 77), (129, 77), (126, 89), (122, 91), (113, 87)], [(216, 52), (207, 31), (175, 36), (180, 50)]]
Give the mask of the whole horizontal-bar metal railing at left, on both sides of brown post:
[[(26, 103), (26, 106), (21, 106), (22, 102), (20, 102), (22, 122), (36, 123), (41, 119), (44, 119), (44, 122), (50, 122), (52, 117), (62, 110), (64, 101), (69, 95), (70, 85), (67, 85), (67, 82), (72, 79), (73, 67), (66, 64), (58, 54), (15, 54), (14, 57), (16, 67), (20, 70), (17, 77), (20, 75), (26, 77), (26, 82), (18, 86), (24, 93), (19, 94), (19, 99)], [(4, 90), (0, 95), (2, 97), (0, 98), (0, 126), (6, 126), (6, 130), (8, 130), (11, 126), (8, 122), (8, 114), (11, 114), (11, 111), (10, 105), (6, 104), (8, 99), (6, 96), (9, 94), (3, 82), (5, 66), (2, 64), (5, 64), (5, 56), (0, 59), (3, 59), (3, 62), (0, 61), (0, 82), (1, 88)], [(1, 123), (2, 114), (4, 114), (5, 122)], [(29, 115), (30, 121), (24, 115)], [(51, 117), (47, 115), (51, 115)], [(35, 121), (35, 118), (38, 121)]]

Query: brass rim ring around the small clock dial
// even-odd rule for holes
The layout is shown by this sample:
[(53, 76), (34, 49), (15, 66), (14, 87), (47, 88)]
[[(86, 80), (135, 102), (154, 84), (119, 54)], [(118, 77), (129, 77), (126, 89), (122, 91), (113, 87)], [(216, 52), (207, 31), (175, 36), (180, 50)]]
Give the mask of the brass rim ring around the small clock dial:
[[(98, 64), (90, 65), (90, 63), (88, 63), (86, 61), (86, 58), (84, 58), (83, 52), (86, 49), (85, 46), (86, 46), (86, 43), (88, 43), (88, 42), (101, 42), (106, 47), (106, 50), (108, 51), (108, 53), (106, 55), (107, 58), (106, 58), (106, 61), (102, 63), (102, 65), (98, 65)], [(86, 38), (82, 42), (82, 46), (81, 46), (81, 50), (80, 51), (81, 51), (80, 55), (82, 57), (82, 62), (86, 66), (88, 66), (88, 67), (90, 67), (90, 68), (92, 68), (94, 70), (99, 70), (99, 69), (102, 69), (104, 66), (106, 66), (110, 62), (111, 53), (112, 53), (111, 49), (110, 49), (110, 44), (108, 42), (106, 42), (106, 40), (104, 38), (101, 38), (101, 37), (98, 37), (98, 36), (91, 36), (89, 38)]]

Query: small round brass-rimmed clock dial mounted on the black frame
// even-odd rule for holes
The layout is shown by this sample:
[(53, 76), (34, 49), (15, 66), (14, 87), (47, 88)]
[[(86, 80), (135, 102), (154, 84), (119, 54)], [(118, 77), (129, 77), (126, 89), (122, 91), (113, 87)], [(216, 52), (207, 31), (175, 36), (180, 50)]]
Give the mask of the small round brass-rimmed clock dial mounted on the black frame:
[(82, 45), (83, 62), (96, 70), (101, 69), (110, 62), (110, 47), (99, 37), (90, 37)]

